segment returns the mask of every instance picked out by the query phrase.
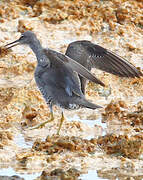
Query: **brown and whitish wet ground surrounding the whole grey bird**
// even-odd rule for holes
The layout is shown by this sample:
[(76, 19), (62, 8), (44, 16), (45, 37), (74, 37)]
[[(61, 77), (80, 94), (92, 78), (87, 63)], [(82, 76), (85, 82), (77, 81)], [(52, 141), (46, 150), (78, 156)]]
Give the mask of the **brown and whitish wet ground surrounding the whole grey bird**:
[[(0, 46), (26, 30), (35, 32), (43, 47), (63, 53), (70, 42), (86, 39), (142, 71), (142, 9), (141, 1), (1, 1)], [(58, 137), (58, 107), (55, 121), (30, 129), (50, 115), (33, 78), (36, 63), (26, 46), (0, 57), (0, 175), (143, 179), (143, 79), (93, 69), (106, 87), (89, 82), (86, 98), (104, 108), (65, 111)]]

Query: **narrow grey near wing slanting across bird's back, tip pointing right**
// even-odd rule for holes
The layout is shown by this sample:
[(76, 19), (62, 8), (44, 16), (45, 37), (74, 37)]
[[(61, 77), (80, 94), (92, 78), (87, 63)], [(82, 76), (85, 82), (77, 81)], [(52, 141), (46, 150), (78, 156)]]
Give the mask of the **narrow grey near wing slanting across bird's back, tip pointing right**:
[(83, 76), (84, 78), (100, 84), (102, 86), (105, 86), (103, 82), (101, 82), (99, 79), (97, 79), (95, 76), (93, 76), (85, 67), (74, 61), (73, 59), (69, 58), (68, 56), (58, 53), (53, 50), (45, 51), (46, 53), (51, 54), (54, 58), (54, 60), (63, 62), (67, 67), (71, 68), (73, 71), (76, 71), (78, 74)]

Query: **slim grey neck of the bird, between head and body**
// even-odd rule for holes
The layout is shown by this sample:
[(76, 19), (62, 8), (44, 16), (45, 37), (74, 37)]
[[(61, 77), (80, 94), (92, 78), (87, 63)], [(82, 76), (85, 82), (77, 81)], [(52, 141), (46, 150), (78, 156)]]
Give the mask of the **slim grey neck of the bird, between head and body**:
[(38, 39), (35, 39), (35, 42), (30, 44), (30, 48), (35, 53), (39, 65), (45, 66), (49, 64), (49, 60), (43, 52), (43, 47)]

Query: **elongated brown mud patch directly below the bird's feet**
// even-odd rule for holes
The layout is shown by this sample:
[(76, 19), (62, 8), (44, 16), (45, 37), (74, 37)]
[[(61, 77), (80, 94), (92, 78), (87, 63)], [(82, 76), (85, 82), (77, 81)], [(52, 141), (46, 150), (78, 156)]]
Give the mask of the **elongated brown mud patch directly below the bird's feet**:
[(84, 140), (79, 137), (48, 136), (45, 142), (36, 141), (32, 148), (36, 151), (46, 152), (48, 155), (60, 153), (64, 150), (79, 153), (93, 153), (96, 149), (95, 144), (95, 140)]

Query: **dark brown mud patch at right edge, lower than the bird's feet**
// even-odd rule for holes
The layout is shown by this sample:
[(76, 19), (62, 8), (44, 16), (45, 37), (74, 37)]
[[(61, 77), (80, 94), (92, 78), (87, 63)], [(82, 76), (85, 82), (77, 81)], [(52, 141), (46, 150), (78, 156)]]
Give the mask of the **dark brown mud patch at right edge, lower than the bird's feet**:
[(110, 134), (99, 137), (97, 144), (107, 153), (116, 156), (123, 156), (130, 159), (141, 158), (143, 154), (143, 136)]

